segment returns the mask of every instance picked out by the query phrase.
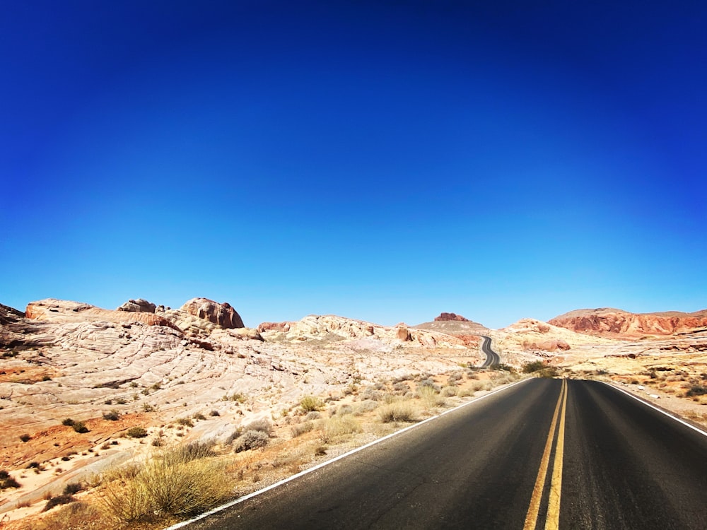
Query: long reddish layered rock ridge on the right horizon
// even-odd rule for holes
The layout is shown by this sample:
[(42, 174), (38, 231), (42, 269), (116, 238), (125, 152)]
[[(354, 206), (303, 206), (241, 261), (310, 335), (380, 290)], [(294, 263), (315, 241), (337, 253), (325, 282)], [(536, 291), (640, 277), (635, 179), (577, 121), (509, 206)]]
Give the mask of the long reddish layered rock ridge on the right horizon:
[(575, 310), (551, 319), (549, 324), (592, 335), (665, 336), (707, 328), (707, 310), (694, 313), (631, 313), (612, 308)]

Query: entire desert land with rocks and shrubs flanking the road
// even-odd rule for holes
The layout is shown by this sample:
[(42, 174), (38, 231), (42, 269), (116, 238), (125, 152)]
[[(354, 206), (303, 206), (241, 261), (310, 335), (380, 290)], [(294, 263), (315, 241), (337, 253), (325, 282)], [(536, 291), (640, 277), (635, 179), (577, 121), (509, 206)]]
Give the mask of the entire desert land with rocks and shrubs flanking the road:
[[(501, 355), (491, 370), (478, 367), (481, 336)], [(578, 310), (503, 329), (454, 313), (414, 326), (310, 315), (250, 329), (205, 298), (46, 299), (0, 305), (0, 355), (8, 529), (163, 528), (521, 377), (602, 379), (707, 425), (707, 311)], [(139, 495), (168, 462), (209, 477), (203, 498), (156, 508)]]

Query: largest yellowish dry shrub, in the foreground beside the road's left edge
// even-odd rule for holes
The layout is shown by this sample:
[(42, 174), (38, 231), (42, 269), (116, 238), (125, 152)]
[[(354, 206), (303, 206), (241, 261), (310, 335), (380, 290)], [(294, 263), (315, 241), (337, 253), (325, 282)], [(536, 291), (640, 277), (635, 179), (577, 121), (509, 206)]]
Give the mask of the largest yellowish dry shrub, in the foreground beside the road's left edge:
[(230, 497), (233, 486), (226, 465), (214, 459), (185, 461), (181, 449), (165, 451), (134, 476), (107, 483), (100, 500), (119, 522), (189, 517)]

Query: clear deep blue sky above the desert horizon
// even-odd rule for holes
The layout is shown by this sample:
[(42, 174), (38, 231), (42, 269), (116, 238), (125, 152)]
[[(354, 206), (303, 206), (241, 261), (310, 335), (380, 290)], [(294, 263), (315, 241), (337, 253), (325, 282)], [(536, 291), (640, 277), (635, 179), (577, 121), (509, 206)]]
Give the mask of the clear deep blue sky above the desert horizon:
[(0, 11), (0, 303), (707, 307), (703, 0)]

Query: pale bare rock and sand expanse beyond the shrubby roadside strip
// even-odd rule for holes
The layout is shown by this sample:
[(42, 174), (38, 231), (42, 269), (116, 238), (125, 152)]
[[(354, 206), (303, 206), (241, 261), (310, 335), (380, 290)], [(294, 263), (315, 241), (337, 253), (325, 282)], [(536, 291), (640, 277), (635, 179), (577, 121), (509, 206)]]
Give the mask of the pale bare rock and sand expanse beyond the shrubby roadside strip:
[[(224, 442), (264, 419), (287, 432), (307, 396), (355, 410), (383, 389), (409, 393), (413, 379), (440, 387), (449, 379), (448, 396), (473, 394), (488, 388), (479, 377), (496, 377), (468, 368), (483, 360), (481, 335), (506, 370), (539, 360), (707, 421), (706, 315), (580, 310), (498, 330), (454, 313), (416, 326), (310, 315), (250, 329), (228, 303), (205, 298), (178, 309), (142, 299), (115, 310), (54, 299), (25, 312), (0, 305), (0, 470), (22, 484), (0, 490), (0, 517), (36, 513), (64, 485), (145, 458), (155, 445)], [(144, 437), (128, 434), (136, 428)]]

